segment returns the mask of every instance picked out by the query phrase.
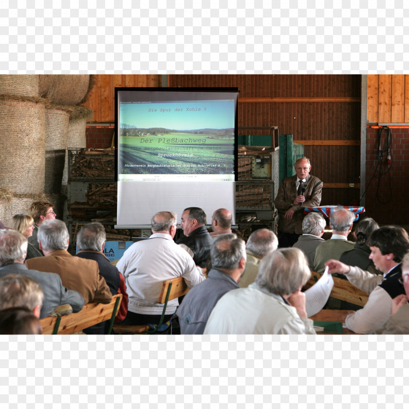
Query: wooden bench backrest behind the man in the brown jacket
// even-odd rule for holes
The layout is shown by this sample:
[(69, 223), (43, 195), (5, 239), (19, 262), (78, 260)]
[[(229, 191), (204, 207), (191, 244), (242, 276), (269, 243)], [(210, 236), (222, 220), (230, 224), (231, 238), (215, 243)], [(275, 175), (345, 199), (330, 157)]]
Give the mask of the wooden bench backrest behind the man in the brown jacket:
[(109, 304), (90, 302), (85, 304), (81, 311), (66, 316), (47, 316), (40, 319), (43, 335), (73, 334), (85, 328), (110, 320), (108, 334), (111, 333), (113, 320), (118, 314), (122, 301), (122, 294), (115, 294)]

